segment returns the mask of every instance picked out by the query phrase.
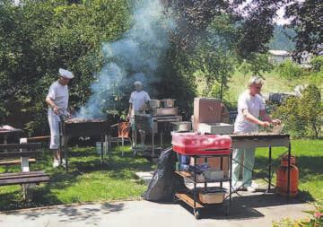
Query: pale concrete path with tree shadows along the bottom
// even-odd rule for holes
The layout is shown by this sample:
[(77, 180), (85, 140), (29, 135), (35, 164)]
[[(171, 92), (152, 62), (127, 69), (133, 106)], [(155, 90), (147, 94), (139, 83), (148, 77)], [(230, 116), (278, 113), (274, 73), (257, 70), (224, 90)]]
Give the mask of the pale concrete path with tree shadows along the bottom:
[(306, 217), (303, 210), (312, 208), (292, 199), (273, 194), (236, 196), (231, 215), (226, 216), (218, 206), (205, 210), (196, 220), (191, 210), (182, 204), (157, 204), (147, 201), (123, 201), (89, 205), (59, 205), (41, 209), (28, 209), (0, 214), (1, 227), (35, 226), (104, 226), (104, 227), (170, 227), (219, 226), (253, 227), (272, 226), (273, 221), (285, 217)]

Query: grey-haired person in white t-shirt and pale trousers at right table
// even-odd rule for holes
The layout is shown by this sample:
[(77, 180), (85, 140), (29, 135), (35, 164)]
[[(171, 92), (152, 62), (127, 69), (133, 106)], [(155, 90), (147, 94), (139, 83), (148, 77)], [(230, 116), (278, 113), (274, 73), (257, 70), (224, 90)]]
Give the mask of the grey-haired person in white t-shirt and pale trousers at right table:
[[(238, 116), (234, 123), (235, 134), (249, 134), (258, 132), (258, 126), (269, 127), (270, 124), (280, 124), (279, 119), (271, 119), (265, 110), (265, 100), (260, 95), (263, 80), (258, 76), (253, 76), (248, 83), (248, 90), (240, 94), (238, 100)], [(262, 119), (260, 120), (259, 117)], [(242, 187), (249, 192), (254, 192), (255, 187), (251, 186), (252, 172), (255, 162), (255, 149), (243, 148), (234, 149), (232, 163), (232, 186), (238, 188), (237, 182), (240, 174), (240, 164), (242, 155), (243, 173)], [(237, 162), (234, 162), (237, 161)]]

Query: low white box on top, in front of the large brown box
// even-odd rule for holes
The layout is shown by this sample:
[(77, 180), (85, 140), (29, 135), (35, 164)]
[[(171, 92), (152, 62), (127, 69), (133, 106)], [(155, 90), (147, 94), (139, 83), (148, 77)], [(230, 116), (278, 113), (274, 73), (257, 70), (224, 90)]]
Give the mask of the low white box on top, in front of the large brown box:
[(226, 123), (199, 123), (197, 131), (202, 134), (231, 135), (233, 133), (233, 125)]

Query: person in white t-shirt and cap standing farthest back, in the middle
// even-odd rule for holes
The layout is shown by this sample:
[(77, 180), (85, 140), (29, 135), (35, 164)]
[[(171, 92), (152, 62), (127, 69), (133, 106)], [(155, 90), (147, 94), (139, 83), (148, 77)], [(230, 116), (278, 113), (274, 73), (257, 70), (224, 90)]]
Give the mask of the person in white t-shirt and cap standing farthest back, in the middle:
[[(131, 92), (129, 100), (129, 112), (127, 119), (130, 120), (132, 135), (133, 135), (133, 145), (136, 144), (136, 129), (135, 129), (135, 114), (143, 114), (145, 109), (149, 107), (149, 101), (151, 100), (149, 94), (144, 92), (143, 83), (136, 81), (134, 83), (135, 92)], [(144, 145), (145, 132), (144, 130), (139, 130), (140, 143)]]

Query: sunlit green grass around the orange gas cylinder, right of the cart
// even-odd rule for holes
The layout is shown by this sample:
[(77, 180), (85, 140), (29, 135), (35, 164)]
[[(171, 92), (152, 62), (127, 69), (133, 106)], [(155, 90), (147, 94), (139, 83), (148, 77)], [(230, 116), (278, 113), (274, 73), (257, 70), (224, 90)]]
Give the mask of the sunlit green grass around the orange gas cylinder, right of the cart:
[[(266, 170), (260, 166), (268, 161), (268, 149), (259, 148), (256, 153), (255, 170), (266, 176)], [(284, 153), (284, 148), (273, 148), (273, 158)], [(299, 192), (306, 201), (323, 202), (323, 140), (292, 140), (292, 155), (296, 156), (296, 166), (300, 170)], [(279, 166), (275, 162), (274, 170)], [(275, 184), (275, 178), (273, 179)]]

